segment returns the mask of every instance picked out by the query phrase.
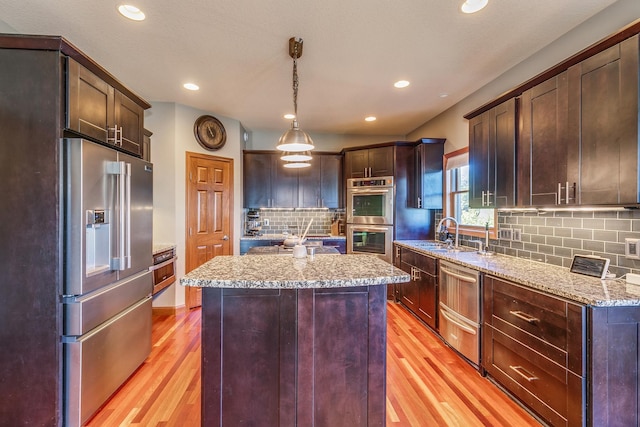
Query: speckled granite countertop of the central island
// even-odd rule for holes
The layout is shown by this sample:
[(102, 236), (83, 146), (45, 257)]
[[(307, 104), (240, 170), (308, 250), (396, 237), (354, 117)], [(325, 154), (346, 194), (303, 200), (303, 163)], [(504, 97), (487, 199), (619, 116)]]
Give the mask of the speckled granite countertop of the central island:
[(375, 255), (217, 256), (180, 279), (182, 286), (310, 289), (404, 283), (410, 276)]

